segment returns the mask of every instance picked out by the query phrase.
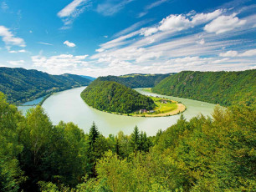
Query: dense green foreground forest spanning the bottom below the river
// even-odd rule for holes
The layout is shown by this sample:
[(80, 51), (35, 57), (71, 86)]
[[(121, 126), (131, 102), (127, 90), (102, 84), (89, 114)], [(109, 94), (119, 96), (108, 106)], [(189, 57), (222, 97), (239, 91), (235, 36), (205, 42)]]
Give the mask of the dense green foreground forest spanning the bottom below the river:
[(217, 107), (147, 137), (23, 117), (0, 93), (0, 191), (253, 191), (255, 104)]

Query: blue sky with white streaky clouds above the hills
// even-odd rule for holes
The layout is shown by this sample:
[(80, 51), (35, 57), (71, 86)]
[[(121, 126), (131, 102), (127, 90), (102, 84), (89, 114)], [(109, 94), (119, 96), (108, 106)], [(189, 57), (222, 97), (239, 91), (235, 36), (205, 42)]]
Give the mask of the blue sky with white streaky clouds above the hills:
[(256, 1), (0, 0), (0, 67), (92, 77), (256, 68)]

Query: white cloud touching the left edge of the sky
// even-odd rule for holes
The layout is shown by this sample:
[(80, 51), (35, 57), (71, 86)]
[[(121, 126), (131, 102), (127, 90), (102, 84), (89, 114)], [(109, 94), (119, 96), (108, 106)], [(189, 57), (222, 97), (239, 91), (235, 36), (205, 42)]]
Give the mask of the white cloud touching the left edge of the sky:
[(10, 30), (4, 26), (0, 26), (0, 36), (7, 46), (16, 45), (19, 47), (26, 47), (23, 38), (15, 38), (13, 33), (11, 33)]

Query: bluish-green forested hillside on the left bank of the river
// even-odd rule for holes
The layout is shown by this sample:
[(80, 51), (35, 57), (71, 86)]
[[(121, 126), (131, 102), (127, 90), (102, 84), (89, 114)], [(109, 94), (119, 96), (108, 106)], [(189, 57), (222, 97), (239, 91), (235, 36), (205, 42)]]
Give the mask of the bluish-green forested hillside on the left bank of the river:
[(50, 75), (24, 68), (0, 68), (0, 91), (13, 104), (25, 103), (48, 93), (85, 86), (90, 82), (90, 79), (74, 74)]

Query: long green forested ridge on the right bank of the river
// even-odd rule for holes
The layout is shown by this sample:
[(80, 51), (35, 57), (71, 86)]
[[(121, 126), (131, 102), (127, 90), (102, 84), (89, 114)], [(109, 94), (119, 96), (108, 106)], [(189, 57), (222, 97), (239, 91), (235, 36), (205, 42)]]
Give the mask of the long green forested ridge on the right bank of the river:
[(152, 91), (212, 104), (252, 104), (256, 95), (256, 70), (239, 72), (184, 71), (163, 79)]

